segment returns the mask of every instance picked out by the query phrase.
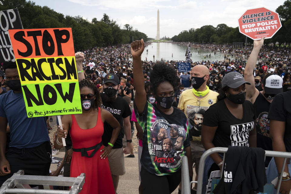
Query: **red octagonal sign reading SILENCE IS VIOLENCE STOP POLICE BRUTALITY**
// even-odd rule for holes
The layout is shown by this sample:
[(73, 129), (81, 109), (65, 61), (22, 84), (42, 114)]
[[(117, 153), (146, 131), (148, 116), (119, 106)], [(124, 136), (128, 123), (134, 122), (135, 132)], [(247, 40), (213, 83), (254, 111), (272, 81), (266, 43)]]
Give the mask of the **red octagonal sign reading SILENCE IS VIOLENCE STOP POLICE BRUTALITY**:
[(272, 38), (282, 27), (279, 14), (264, 7), (247, 10), (238, 22), (239, 32), (253, 40)]

